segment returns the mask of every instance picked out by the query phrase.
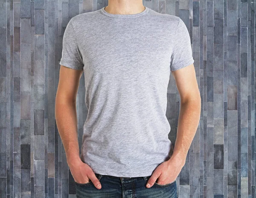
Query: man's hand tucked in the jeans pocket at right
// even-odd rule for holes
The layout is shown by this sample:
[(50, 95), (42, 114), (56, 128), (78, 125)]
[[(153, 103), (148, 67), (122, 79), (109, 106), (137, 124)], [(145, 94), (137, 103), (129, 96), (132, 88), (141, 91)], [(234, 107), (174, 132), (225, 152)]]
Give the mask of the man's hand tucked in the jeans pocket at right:
[(182, 167), (183, 164), (181, 161), (177, 161), (176, 158), (171, 157), (168, 161), (164, 161), (154, 170), (153, 174), (148, 179), (146, 187), (150, 188), (155, 182), (161, 185), (174, 182), (180, 174)]

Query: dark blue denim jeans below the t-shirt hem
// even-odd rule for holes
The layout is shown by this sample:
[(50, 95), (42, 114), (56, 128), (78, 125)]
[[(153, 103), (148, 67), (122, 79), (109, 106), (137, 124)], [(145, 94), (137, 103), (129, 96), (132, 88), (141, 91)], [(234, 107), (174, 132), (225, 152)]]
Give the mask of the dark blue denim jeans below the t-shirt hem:
[(77, 198), (177, 198), (176, 180), (170, 184), (155, 183), (146, 187), (146, 177), (115, 177), (95, 173), (102, 188), (97, 189), (92, 181), (86, 184), (76, 183)]

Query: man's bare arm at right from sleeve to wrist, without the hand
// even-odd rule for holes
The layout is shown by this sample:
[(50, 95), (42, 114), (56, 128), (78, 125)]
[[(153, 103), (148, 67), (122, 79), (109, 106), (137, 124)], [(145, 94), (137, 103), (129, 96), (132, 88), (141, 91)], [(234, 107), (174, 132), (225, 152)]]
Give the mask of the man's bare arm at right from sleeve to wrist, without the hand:
[(201, 96), (193, 64), (172, 71), (172, 75), (175, 78), (181, 101), (177, 138), (172, 158), (176, 158), (184, 165), (200, 120)]

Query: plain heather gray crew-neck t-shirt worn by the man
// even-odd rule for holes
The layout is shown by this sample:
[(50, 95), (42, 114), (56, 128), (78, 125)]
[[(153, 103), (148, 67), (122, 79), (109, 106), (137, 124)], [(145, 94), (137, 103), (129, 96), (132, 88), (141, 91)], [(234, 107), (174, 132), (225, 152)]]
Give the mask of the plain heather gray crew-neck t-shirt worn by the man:
[(60, 65), (84, 71), (81, 160), (102, 175), (148, 176), (172, 155), (167, 86), (171, 71), (194, 62), (189, 32), (148, 7), (104, 8), (71, 18), (63, 36)]

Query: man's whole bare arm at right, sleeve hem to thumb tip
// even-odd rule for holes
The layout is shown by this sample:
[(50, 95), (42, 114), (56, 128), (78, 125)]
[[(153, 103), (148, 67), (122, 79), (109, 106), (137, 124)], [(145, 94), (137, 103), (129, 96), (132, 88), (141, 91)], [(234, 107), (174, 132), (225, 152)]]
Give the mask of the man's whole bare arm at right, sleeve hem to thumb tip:
[(148, 179), (151, 187), (169, 184), (176, 180), (186, 162), (186, 156), (198, 128), (201, 113), (201, 96), (195, 76), (194, 65), (172, 71), (180, 94), (180, 114), (177, 137), (171, 158), (161, 163)]

